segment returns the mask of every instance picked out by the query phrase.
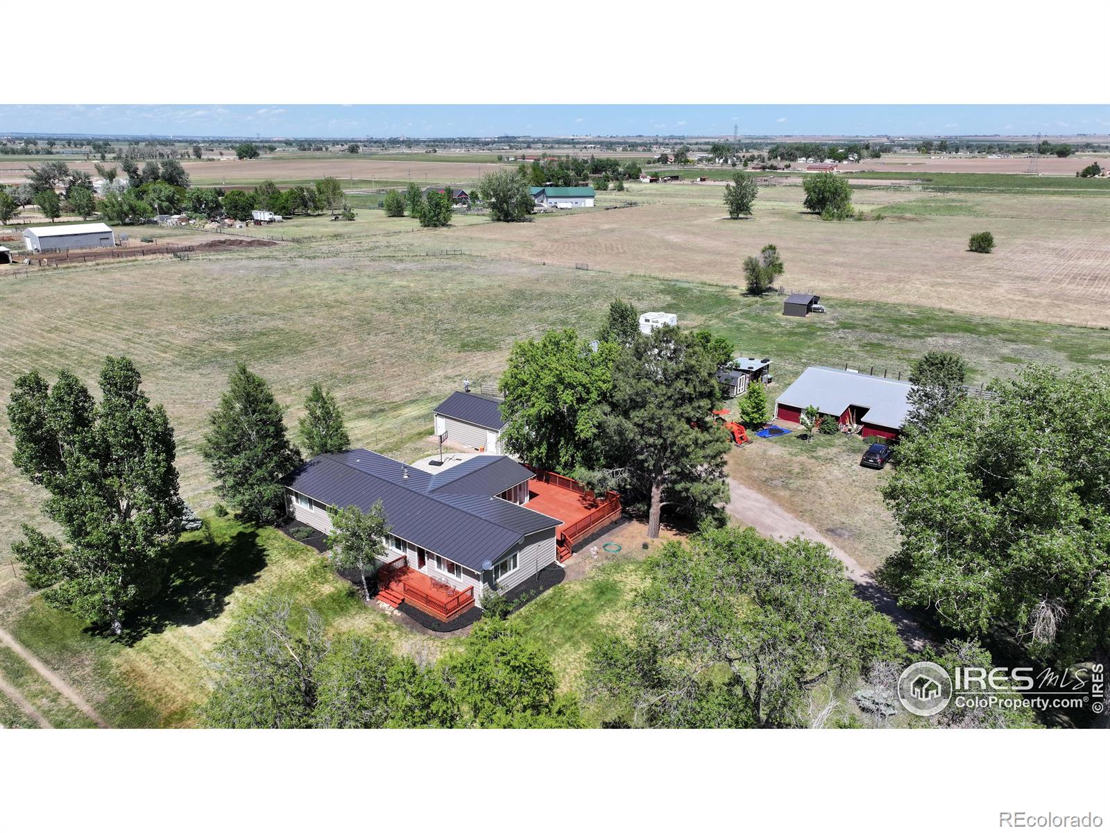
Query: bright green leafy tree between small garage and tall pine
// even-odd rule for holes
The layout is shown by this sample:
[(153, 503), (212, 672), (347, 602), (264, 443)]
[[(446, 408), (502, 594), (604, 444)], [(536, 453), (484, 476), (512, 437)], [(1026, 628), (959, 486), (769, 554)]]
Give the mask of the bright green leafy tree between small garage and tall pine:
[(620, 348), (597, 351), (572, 329), (549, 330), (539, 341), (518, 341), (501, 378), (506, 451), (542, 469), (569, 474), (603, 459), (604, 404)]

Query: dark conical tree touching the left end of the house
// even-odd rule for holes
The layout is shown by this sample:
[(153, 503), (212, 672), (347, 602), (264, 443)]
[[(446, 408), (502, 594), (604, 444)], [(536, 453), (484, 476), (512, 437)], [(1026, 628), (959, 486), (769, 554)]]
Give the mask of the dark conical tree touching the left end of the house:
[(273, 523), (285, 514), (281, 479), (301, 455), (285, 436), (282, 409), (270, 385), (242, 362), (209, 414), (201, 455), (216, 479), (216, 493), (243, 520)]

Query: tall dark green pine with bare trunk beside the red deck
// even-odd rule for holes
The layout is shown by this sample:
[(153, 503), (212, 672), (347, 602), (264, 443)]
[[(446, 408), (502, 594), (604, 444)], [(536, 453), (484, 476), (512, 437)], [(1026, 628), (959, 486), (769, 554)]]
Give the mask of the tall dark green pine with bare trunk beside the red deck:
[(659, 535), (664, 505), (704, 518), (728, 501), (728, 438), (709, 422), (720, 405), (716, 372), (699, 341), (675, 327), (636, 339), (613, 368), (605, 465), (614, 484), (646, 496), (648, 538)]

